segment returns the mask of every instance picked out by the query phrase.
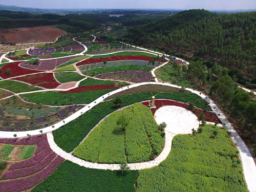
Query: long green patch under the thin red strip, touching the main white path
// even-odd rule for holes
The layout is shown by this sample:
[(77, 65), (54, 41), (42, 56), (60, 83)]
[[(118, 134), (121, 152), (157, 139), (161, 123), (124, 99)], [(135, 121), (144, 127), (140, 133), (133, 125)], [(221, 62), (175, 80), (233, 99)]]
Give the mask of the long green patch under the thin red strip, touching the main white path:
[(59, 93), (59, 92), (41, 92), (22, 95), (23, 99), (29, 102), (41, 103), (47, 105), (69, 105), (90, 103), (100, 96), (114, 91), (116, 89), (103, 89), (97, 91), (86, 91), (80, 93)]

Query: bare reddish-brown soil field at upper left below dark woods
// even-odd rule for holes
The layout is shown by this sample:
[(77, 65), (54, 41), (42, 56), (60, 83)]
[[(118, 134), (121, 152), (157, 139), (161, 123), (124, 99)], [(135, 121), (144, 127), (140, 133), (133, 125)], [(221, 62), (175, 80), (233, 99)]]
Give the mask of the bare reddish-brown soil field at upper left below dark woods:
[[(22, 42), (32, 44), (35, 42), (53, 42), (58, 36), (68, 34), (55, 26), (1, 29), (1, 41)], [(3, 35), (3, 37), (2, 37)]]

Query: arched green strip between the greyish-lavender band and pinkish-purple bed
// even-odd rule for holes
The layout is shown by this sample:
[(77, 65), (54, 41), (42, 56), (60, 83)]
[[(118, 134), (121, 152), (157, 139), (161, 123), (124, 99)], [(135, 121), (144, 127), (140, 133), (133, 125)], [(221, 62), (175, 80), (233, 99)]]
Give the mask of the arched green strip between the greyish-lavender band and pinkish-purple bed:
[(82, 71), (82, 73), (84, 75), (96, 76), (99, 74), (116, 72), (116, 71), (127, 71), (127, 70), (151, 71), (153, 69), (154, 69), (153, 67), (148, 67), (148, 66), (127, 65), (127, 66), (110, 66), (110, 67), (103, 67), (103, 68), (98, 68), (98, 69), (91, 69), (91, 70)]

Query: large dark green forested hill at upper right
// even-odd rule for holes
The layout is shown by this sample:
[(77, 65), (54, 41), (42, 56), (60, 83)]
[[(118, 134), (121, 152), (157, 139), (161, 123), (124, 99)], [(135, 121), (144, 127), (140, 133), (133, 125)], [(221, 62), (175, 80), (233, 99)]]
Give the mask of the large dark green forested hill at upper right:
[(256, 74), (256, 12), (182, 11), (134, 27), (130, 38), (137, 45), (157, 46), (166, 53), (175, 50), (190, 57), (214, 59), (249, 78)]

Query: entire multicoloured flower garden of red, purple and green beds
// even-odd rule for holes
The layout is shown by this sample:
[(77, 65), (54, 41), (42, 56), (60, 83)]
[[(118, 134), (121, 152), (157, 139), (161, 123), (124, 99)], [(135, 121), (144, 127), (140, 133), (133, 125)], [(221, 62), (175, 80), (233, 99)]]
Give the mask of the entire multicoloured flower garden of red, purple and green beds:
[[(38, 65), (16, 61), (0, 66), (0, 131), (13, 132), (17, 137), (0, 138), (0, 159), (8, 165), (0, 169), (0, 191), (248, 191), (230, 133), (216, 125), (200, 125), (191, 135), (176, 135), (171, 152), (159, 165), (126, 174), (86, 168), (57, 155), (41, 131), (54, 128), (55, 123), (63, 123), (52, 129), (53, 140), (61, 150), (72, 152), (80, 161), (101, 165), (154, 161), (166, 139), (154, 114), (164, 105), (176, 105), (199, 119), (221, 123), (207, 102), (185, 89), (147, 84), (104, 98), (111, 91), (129, 88), (125, 81), (154, 81), (150, 71), (167, 60), (141, 51), (99, 55), (111, 51), (108, 46), (125, 48), (118, 43), (103, 43), (105, 50), (99, 51), (100, 44), (91, 44), (88, 52), (93, 56), (70, 56), (84, 51), (78, 42), (40, 45), (41, 48), (29, 50), (30, 55), (23, 51), (11, 59), (38, 55), (60, 58), (40, 59)], [(81, 79), (84, 80), (77, 86)], [(73, 89), (36, 92), (63, 83), (70, 83)], [(156, 108), (150, 109), (148, 98), (152, 94), (157, 94)], [(116, 97), (120, 98), (119, 103)], [(104, 100), (96, 103), (97, 98)], [(65, 123), (65, 118), (90, 108), (86, 104), (91, 102), (97, 105)], [(118, 123), (122, 118), (128, 123)], [(38, 135), (19, 138), (18, 132), (32, 130)]]

